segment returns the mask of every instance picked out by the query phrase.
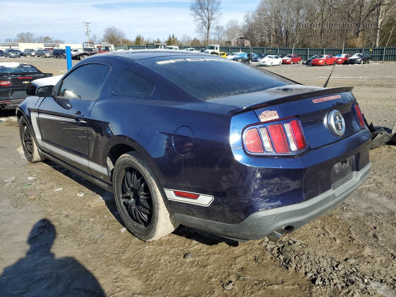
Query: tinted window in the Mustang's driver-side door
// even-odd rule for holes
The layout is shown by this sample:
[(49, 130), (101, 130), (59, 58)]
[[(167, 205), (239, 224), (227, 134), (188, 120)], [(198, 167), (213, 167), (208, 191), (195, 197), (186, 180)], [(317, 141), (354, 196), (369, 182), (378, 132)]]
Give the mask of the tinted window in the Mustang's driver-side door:
[(78, 67), (62, 81), (58, 96), (89, 101), (96, 100), (109, 71), (109, 66), (101, 64), (88, 64)]

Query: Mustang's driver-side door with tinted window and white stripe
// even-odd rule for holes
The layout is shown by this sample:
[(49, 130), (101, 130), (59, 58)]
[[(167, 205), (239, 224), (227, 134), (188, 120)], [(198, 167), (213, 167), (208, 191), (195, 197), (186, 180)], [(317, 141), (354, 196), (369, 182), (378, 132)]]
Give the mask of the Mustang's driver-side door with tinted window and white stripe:
[(88, 117), (110, 71), (104, 62), (87, 62), (66, 74), (38, 108), (40, 132), (48, 153), (89, 173)]

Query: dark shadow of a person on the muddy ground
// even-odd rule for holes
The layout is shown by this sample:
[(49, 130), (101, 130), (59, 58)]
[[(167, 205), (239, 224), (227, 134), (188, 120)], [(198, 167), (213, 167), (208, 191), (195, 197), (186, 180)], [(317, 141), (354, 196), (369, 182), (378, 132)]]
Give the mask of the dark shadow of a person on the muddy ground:
[(105, 296), (96, 278), (72, 257), (55, 258), (50, 249), (55, 227), (48, 219), (30, 231), (26, 257), (6, 267), (0, 276), (1, 296), (87, 297)]

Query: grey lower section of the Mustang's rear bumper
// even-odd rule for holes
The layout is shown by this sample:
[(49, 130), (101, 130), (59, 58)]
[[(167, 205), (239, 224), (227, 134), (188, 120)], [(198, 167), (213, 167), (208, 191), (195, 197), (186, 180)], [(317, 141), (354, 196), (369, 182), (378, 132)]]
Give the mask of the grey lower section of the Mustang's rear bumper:
[[(371, 163), (360, 171), (354, 171), (339, 187), (330, 190), (301, 203), (266, 209), (252, 213), (238, 224), (226, 224), (197, 217), (175, 213), (175, 218), (181, 224), (227, 238), (241, 240), (259, 240), (274, 230), (289, 227), (293, 232), (310, 221), (327, 213), (341, 204), (369, 176)], [(337, 183), (339, 185), (340, 183)]]

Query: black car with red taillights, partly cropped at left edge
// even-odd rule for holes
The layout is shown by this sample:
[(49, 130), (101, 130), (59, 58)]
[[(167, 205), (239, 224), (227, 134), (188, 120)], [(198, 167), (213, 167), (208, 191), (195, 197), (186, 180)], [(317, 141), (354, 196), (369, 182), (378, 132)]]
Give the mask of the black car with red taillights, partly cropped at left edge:
[(37, 78), (52, 76), (25, 63), (0, 63), (0, 109), (15, 109), (25, 98), (27, 85)]

